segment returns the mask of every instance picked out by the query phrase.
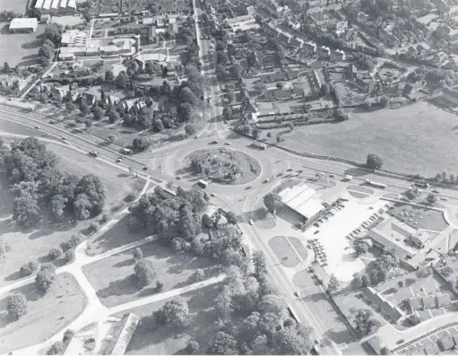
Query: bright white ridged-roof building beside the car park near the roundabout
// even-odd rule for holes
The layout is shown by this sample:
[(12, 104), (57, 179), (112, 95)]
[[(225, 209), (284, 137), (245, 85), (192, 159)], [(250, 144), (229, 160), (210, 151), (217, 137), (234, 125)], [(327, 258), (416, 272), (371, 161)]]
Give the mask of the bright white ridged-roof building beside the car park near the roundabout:
[(324, 209), (320, 195), (306, 184), (283, 189), (279, 195), (283, 204), (307, 220)]

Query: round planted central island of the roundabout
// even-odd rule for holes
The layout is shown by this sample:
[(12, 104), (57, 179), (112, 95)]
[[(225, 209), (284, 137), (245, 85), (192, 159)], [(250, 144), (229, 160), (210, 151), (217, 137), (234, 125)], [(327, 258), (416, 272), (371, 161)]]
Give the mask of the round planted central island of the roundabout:
[(215, 183), (246, 184), (261, 174), (262, 166), (253, 156), (226, 147), (212, 147), (189, 153), (183, 167)]

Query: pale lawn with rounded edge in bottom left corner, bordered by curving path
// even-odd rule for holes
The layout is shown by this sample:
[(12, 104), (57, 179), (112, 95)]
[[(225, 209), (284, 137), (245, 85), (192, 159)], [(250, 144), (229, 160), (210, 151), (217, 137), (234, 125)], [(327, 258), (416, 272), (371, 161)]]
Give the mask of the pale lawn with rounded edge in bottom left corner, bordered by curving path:
[[(57, 274), (54, 285), (44, 296), (34, 283), (14, 291), (24, 294), (28, 313), (17, 321), (11, 321), (7, 314), (0, 315), (2, 353), (43, 342), (69, 325), (86, 306), (86, 297), (71, 274)], [(5, 308), (6, 295), (0, 300), (0, 310)]]

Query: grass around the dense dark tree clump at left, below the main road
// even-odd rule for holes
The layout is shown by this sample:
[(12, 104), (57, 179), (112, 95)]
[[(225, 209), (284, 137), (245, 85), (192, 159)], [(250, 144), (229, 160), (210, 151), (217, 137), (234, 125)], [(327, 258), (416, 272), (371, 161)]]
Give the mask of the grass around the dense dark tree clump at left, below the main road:
[[(143, 180), (119, 176), (117, 169), (103, 162), (95, 161), (82, 153), (54, 143), (47, 144), (47, 147), (53, 149), (61, 158), (65, 170), (77, 175), (88, 173), (101, 175), (107, 187), (104, 213), (109, 213), (114, 206), (112, 204), (122, 200), (127, 192), (138, 193), (143, 187)], [(92, 221), (99, 220), (101, 216), (100, 214), (96, 218), (79, 221), (78, 223), (64, 222), (56, 224), (43, 220), (34, 228), (22, 229), (13, 223), (13, 197), (8, 187), (2, 182), (0, 182), (0, 201), (2, 202), (0, 208), (0, 231), (2, 231), (4, 241), (8, 242), (12, 247), (11, 251), (4, 256), (3, 268), (0, 269), (0, 286), (19, 279), (21, 265), (30, 261), (48, 262), (49, 248), (57, 247), (72, 235), (85, 231)]]

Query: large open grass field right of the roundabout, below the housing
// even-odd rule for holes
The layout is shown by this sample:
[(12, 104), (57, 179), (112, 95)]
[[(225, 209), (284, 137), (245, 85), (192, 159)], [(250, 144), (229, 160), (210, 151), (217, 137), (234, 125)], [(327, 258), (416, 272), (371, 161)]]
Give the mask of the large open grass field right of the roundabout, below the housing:
[(421, 101), (402, 109), (352, 113), (339, 124), (295, 127), (282, 136), (282, 144), (359, 162), (375, 152), (386, 169), (423, 175), (428, 167), (427, 175), (435, 176), (458, 166), (456, 127), (453, 114)]

